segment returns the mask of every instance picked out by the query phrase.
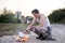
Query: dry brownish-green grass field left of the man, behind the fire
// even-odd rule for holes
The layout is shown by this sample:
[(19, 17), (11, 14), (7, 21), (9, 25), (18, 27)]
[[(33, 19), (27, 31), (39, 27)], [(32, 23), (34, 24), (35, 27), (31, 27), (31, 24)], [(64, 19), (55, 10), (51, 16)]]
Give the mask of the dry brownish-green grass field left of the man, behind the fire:
[(25, 24), (0, 24), (0, 37), (1, 35), (12, 35), (15, 29), (24, 30), (27, 27)]

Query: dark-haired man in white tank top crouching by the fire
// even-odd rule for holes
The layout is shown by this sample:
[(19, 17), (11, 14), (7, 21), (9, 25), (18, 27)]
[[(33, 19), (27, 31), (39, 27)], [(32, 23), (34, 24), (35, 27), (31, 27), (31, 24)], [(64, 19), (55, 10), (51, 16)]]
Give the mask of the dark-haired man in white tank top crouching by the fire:
[[(34, 19), (31, 24), (27, 27), (26, 31), (34, 31), (36, 34), (39, 35), (37, 37), (37, 39), (50, 40), (52, 35), (49, 18), (43, 14), (40, 14), (37, 9), (32, 10), (31, 14), (34, 15)], [(39, 23), (39, 26), (34, 26), (36, 22)]]

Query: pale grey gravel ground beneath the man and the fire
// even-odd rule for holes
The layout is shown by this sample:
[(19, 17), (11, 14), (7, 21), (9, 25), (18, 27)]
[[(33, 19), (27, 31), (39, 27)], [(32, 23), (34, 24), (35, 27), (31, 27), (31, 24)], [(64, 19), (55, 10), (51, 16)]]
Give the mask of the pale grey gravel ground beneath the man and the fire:
[[(47, 41), (47, 40), (37, 40), (36, 34), (31, 33), (30, 39), (28, 42), (25, 43), (65, 43), (65, 25), (62, 24), (54, 24), (52, 25), (52, 37), (56, 41)], [(0, 38), (0, 43), (23, 43), (23, 42), (16, 42), (13, 38), (14, 35), (4, 35)]]

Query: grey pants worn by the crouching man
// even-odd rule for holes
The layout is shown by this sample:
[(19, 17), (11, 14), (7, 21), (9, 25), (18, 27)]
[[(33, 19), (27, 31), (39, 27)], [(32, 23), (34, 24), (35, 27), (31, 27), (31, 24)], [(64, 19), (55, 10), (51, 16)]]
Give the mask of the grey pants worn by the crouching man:
[(43, 27), (32, 26), (29, 30), (34, 31), (38, 35), (42, 34), (43, 37), (47, 37), (47, 39), (52, 38), (50, 27), (43, 28)]

